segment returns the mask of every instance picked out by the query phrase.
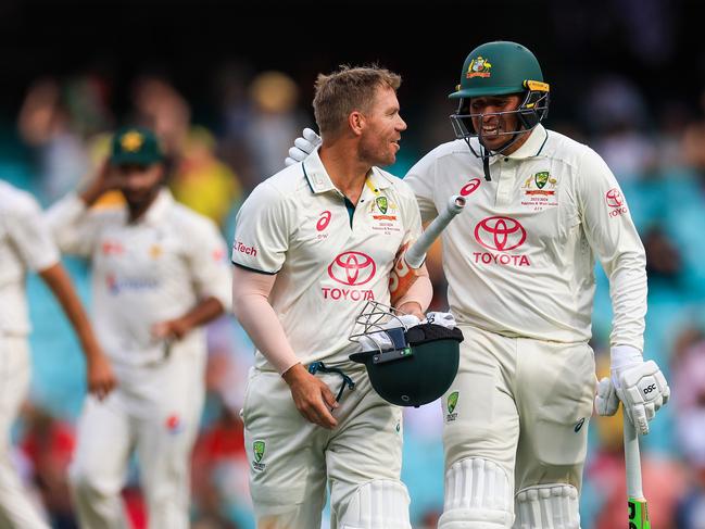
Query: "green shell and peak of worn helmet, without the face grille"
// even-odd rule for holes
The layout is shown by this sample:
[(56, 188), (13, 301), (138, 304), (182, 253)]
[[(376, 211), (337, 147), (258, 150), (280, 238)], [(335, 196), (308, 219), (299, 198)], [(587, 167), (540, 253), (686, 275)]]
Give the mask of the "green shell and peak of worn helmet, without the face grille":
[(451, 99), (506, 96), (527, 89), (549, 91), (539, 61), (516, 42), (487, 42), (475, 48), (463, 64), (461, 84)]

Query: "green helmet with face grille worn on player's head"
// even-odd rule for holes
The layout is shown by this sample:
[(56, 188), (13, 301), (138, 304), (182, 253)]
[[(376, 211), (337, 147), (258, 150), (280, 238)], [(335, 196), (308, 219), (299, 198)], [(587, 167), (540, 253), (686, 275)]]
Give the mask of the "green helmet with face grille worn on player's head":
[[(478, 46), (467, 55), (463, 64), (461, 84), (449, 96), (450, 99), (458, 100), (457, 112), (451, 115), (455, 136), (464, 139), (478, 158), (487, 159), (501, 153), (521, 134), (530, 131), (547, 116), (549, 90), (549, 85), (543, 81), (539, 61), (524, 46), (508, 41)], [(521, 102), (516, 110), (492, 114), (473, 114), (470, 111), (471, 98), (512, 93), (521, 96)], [(507, 114), (518, 116), (519, 128), (500, 133), (508, 136), (507, 142), (499, 151), (490, 153), (482, 144), (481, 130), (479, 133), (475, 130), (473, 118)], [(470, 138), (480, 140), (479, 154), (470, 144)]]

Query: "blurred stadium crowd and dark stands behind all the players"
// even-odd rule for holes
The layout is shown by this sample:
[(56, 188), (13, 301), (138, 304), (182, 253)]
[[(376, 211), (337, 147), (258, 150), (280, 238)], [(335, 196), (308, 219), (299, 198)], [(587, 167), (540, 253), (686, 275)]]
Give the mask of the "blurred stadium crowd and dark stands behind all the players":
[[(685, 0), (534, 2), (23, 2), (0, 3), (0, 178), (47, 205), (85, 181), (110, 130), (151, 123), (172, 154), (177, 197), (230, 239), (234, 215), (282, 166), (312, 125), (313, 81), (341, 63), (399, 72), (408, 130), (392, 172), (452, 139), (445, 99), (466, 54), (517, 40), (552, 85), (547, 126), (609, 163), (647, 251), (645, 356), (673, 402), (643, 439), (645, 491), (658, 529), (705, 527), (705, 46), (698, 3)], [(66, 261), (90, 304), (85, 263)], [(431, 260), (436, 272), (438, 263)], [(593, 347), (609, 332), (599, 272)], [(444, 306), (443, 279), (436, 276)], [(34, 379), (13, 431), (14, 454), (56, 528), (75, 527), (65, 466), (85, 387), (76, 341), (30, 277)], [(315, 315), (312, 314), (312, 325)], [(237, 412), (251, 345), (231, 318), (210, 328), (207, 404), (193, 461), (193, 527), (251, 528), (249, 462)], [(620, 420), (593, 420), (583, 529), (624, 527)], [(410, 411), (404, 480), (415, 528), (442, 508), (440, 406)], [(137, 470), (125, 490), (144, 527)]]

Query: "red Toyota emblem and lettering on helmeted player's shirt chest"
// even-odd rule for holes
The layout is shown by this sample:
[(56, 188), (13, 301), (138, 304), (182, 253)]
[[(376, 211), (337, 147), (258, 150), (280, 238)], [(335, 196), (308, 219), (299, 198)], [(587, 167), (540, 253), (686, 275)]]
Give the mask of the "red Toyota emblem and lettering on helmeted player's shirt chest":
[(515, 218), (483, 218), (475, 226), (475, 240), (489, 252), (473, 252), (473, 257), (476, 263), (484, 265), (531, 266), (529, 257), (516, 253), (526, 238), (526, 229)]

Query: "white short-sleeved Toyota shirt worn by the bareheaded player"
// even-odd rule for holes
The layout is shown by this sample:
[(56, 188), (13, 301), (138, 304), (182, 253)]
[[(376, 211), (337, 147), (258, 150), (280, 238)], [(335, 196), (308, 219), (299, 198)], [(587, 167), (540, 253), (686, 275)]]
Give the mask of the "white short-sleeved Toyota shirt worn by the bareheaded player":
[[(373, 167), (357, 205), (331, 182), (318, 150), (260, 184), (240, 209), (232, 263), (277, 278), (269, 303), (303, 364), (342, 364), (367, 300), (389, 304), (400, 247), (420, 234), (414, 193)], [(272, 365), (256, 352), (256, 366)]]

